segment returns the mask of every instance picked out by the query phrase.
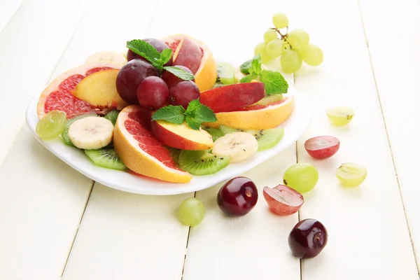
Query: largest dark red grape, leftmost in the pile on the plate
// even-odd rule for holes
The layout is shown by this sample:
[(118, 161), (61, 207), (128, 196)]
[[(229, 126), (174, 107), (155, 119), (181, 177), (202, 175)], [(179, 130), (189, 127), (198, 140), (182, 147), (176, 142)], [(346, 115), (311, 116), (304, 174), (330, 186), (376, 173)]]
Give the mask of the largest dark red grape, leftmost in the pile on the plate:
[(116, 87), (120, 97), (128, 104), (139, 104), (137, 88), (148, 76), (158, 76), (158, 69), (141, 59), (127, 62), (117, 75)]

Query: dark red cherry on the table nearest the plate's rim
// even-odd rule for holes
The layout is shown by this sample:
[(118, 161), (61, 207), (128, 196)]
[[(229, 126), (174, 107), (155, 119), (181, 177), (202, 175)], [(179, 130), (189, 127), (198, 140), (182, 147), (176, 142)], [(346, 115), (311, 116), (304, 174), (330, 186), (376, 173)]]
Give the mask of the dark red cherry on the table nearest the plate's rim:
[(218, 207), (228, 216), (244, 216), (257, 202), (257, 187), (251, 179), (244, 176), (230, 179), (217, 194)]

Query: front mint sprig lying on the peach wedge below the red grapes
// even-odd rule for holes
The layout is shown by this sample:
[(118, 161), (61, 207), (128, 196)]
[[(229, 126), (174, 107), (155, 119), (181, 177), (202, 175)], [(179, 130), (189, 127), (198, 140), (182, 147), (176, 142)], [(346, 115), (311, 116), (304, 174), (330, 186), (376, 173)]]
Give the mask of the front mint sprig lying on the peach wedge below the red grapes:
[(166, 120), (176, 125), (186, 122), (193, 130), (200, 130), (202, 123), (213, 123), (217, 118), (213, 110), (201, 104), (200, 99), (195, 99), (188, 104), (187, 109), (181, 105), (162, 107), (153, 113), (152, 120)]

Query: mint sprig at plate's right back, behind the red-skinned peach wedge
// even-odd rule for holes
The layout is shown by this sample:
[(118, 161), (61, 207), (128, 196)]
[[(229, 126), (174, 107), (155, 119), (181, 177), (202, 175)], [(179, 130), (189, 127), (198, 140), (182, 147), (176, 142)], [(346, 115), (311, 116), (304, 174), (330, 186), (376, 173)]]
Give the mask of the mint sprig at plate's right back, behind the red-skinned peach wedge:
[(259, 78), (261, 83), (264, 83), (265, 94), (283, 94), (288, 92), (288, 83), (278, 71), (262, 70), (261, 57), (255, 55), (253, 59), (249, 59), (240, 66), (242, 73), (248, 75), (241, 78), (241, 83), (251, 83), (252, 80)]

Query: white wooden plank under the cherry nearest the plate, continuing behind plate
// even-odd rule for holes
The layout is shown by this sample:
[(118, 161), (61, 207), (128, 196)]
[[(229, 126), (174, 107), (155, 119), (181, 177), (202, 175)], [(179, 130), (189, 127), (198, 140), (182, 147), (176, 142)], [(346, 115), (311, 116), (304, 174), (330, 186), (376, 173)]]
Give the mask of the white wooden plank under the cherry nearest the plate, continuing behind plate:
[[(222, 60), (239, 66), (253, 57), (254, 46), (272, 26), (267, 6), (269, 1), (258, 5), (251, 1), (225, 3), (219, 49)], [(272, 13), (290, 13), (290, 10), (291, 1), (281, 1), (276, 3)], [(252, 24), (237, 28), (243, 21)], [(285, 77), (293, 86), (293, 77)], [(283, 218), (272, 214), (262, 196), (262, 188), (282, 183), (281, 174), (294, 163), (293, 145), (243, 174), (255, 182), (259, 197), (255, 208), (240, 218), (228, 218), (218, 209), (216, 197), (223, 183), (197, 192), (196, 197), (206, 207), (206, 216), (200, 225), (190, 230), (184, 280), (300, 279), (300, 262), (290, 254), (287, 243), (288, 232), (297, 223), (297, 214)]]

